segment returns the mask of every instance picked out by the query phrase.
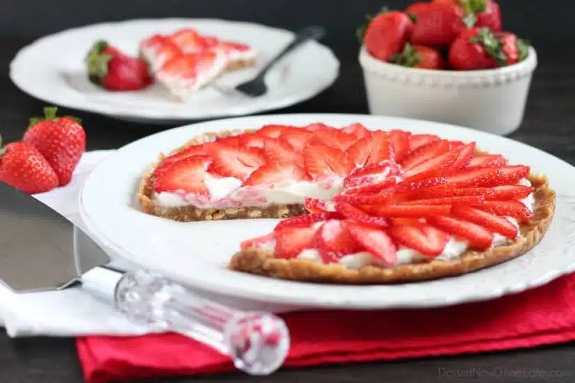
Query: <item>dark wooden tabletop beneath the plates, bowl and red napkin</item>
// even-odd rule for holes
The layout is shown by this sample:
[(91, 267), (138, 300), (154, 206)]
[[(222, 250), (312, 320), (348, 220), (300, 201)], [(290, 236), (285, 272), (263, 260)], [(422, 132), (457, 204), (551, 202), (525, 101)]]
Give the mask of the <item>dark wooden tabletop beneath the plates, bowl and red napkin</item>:
[[(43, 102), (21, 93), (8, 78), (8, 66), (17, 49), (30, 40), (0, 37), (0, 134), (5, 141), (20, 139), (30, 116), (41, 113)], [(333, 112), (367, 113), (365, 93), (357, 65), (357, 47), (328, 45), (342, 61), (342, 72), (328, 91), (281, 113)], [(526, 120), (512, 138), (535, 146), (575, 164), (575, 50), (569, 47), (539, 47), (539, 68), (535, 75), (526, 111)], [(38, 63), (42, 65), (42, 63)], [(165, 126), (124, 123), (102, 116), (69, 111), (84, 120), (89, 150), (118, 148)], [(489, 111), (486, 111), (489, 113)], [(464, 357), (428, 358), (354, 366), (331, 366), (282, 370), (270, 377), (253, 378), (240, 373), (215, 377), (153, 380), (153, 382), (461, 382), (446, 372), (480, 372), (477, 382), (573, 382), (575, 345), (554, 345), (516, 352), (498, 352)], [(563, 377), (504, 377), (512, 370), (550, 372)], [(473, 375), (472, 375), (473, 376)], [(72, 339), (9, 339), (0, 335), (0, 382), (82, 382)], [(152, 382), (152, 380), (150, 381)]]

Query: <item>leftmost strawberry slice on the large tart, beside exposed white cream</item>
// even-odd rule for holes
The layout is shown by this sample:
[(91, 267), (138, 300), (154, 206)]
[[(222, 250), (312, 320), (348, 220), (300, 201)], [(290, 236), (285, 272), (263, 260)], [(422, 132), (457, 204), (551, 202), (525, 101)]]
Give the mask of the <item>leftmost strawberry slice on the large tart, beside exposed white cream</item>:
[(209, 163), (208, 156), (194, 156), (174, 162), (162, 172), (155, 173), (153, 188), (158, 193), (183, 191), (208, 196), (204, 178)]

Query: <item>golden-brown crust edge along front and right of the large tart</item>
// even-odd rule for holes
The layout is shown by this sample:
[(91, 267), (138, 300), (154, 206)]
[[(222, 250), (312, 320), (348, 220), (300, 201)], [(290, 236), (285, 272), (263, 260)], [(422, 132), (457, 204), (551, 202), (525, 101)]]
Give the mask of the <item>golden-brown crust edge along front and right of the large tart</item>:
[(513, 242), (487, 251), (468, 250), (452, 260), (432, 260), (397, 267), (364, 266), (357, 270), (337, 264), (324, 265), (312, 260), (277, 259), (262, 249), (245, 249), (236, 253), (229, 269), (292, 281), (342, 284), (390, 284), (426, 281), (474, 272), (503, 263), (530, 251), (543, 238), (555, 212), (555, 192), (549, 189), (544, 175), (528, 175), (535, 187), (535, 216), (528, 225), (520, 226), (521, 236)]

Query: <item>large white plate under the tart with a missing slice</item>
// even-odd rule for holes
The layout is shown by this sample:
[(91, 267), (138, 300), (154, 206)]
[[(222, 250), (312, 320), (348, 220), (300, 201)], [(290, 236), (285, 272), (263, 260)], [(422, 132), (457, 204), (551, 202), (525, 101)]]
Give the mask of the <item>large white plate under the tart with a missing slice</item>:
[[(562, 195), (553, 224), (535, 249), (479, 272), (459, 277), (394, 286), (334, 286), (268, 279), (226, 268), (240, 242), (273, 229), (277, 219), (180, 223), (139, 211), (136, 190), (141, 173), (164, 153), (201, 132), (231, 127), (248, 129), (268, 123), (305, 125), (359, 122), (371, 129), (435, 133), (445, 139), (476, 141), (480, 148), (503, 153), (549, 176)], [(92, 171), (79, 196), (79, 210), (100, 245), (128, 260), (162, 272), (181, 283), (225, 295), (275, 304), (323, 308), (397, 308), (446, 306), (500, 297), (540, 286), (575, 270), (575, 168), (562, 160), (504, 137), (463, 127), (404, 118), (344, 114), (252, 116), (178, 127), (130, 143)]]

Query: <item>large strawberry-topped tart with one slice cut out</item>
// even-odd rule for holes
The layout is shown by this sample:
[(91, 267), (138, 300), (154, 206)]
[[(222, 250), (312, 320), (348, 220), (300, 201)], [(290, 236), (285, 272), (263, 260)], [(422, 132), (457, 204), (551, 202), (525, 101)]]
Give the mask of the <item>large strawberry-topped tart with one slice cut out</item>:
[(230, 269), (325, 283), (465, 274), (521, 256), (555, 210), (544, 175), (434, 134), (266, 125), (161, 155), (141, 209), (177, 221), (286, 218)]

